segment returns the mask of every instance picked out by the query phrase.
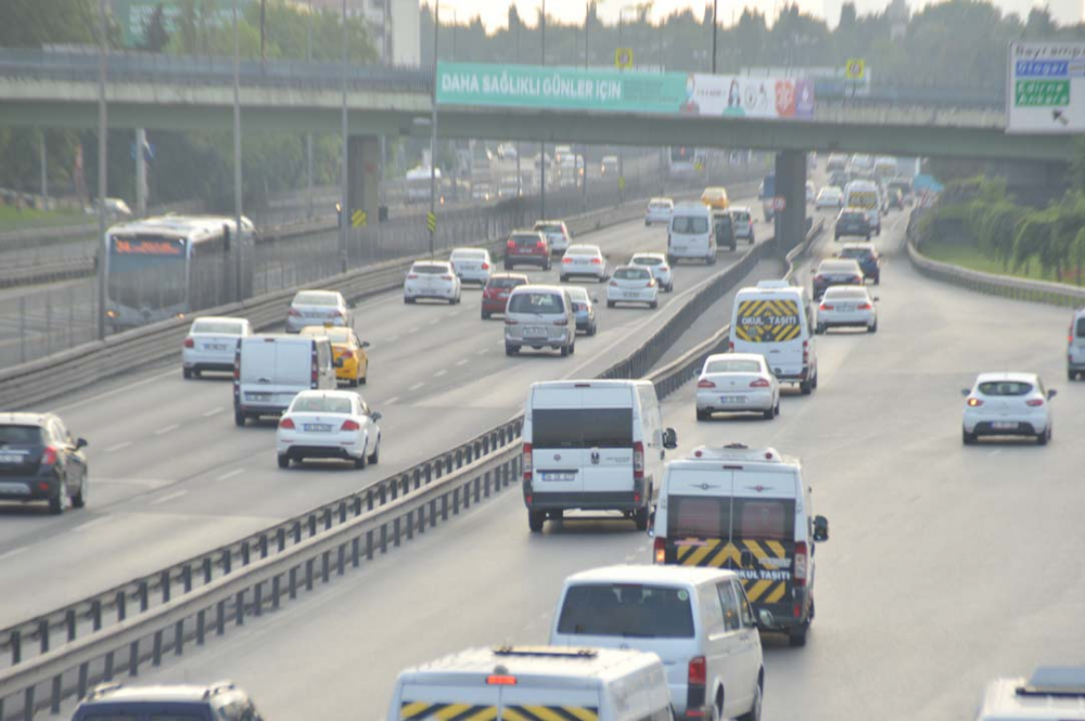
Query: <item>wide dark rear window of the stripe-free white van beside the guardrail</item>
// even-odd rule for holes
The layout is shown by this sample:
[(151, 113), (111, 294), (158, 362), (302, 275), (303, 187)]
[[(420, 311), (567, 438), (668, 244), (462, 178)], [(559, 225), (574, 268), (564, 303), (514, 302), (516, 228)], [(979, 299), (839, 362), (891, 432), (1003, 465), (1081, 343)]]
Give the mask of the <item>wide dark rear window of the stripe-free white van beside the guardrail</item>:
[(532, 443), (535, 448), (633, 448), (633, 409), (535, 409)]

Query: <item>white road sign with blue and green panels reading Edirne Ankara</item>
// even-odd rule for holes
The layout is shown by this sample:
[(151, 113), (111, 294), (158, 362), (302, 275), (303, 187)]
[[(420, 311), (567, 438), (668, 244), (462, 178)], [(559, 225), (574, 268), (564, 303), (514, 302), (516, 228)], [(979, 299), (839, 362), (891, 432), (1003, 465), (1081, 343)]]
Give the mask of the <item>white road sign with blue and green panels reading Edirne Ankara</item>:
[(1006, 132), (1085, 130), (1085, 42), (1010, 43)]

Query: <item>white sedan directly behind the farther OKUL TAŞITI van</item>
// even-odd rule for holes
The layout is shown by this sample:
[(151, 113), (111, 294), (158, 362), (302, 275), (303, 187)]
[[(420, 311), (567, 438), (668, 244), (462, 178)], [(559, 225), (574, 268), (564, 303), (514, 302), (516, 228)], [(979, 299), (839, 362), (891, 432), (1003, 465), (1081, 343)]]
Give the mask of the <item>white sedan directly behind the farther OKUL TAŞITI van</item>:
[(697, 381), (697, 420), (715, 412), (756, 412), (771, 421), (780, 414), (780, 384), (758, 353), (709, 356)]

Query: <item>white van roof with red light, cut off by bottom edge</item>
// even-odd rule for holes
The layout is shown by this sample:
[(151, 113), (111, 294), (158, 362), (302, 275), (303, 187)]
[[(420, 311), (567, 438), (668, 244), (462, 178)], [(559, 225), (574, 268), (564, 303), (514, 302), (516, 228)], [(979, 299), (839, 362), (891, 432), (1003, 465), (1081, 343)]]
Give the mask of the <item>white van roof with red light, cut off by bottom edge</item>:
[(406, 669), (387, 721), (667, 721), (654, 654), (617, 648), (471, 648)]

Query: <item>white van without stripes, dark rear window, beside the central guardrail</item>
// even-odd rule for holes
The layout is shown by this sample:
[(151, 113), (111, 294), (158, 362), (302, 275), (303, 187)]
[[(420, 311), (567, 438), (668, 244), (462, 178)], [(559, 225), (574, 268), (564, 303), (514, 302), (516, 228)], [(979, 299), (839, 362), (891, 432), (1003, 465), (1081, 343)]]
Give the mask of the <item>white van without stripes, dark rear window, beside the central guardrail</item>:
[(621, 511), (648, 529), (663, 478), (663, 428), (649, 381), (533, 383), (524, 409), (524, 504), (535, 532), (566, 510)]

